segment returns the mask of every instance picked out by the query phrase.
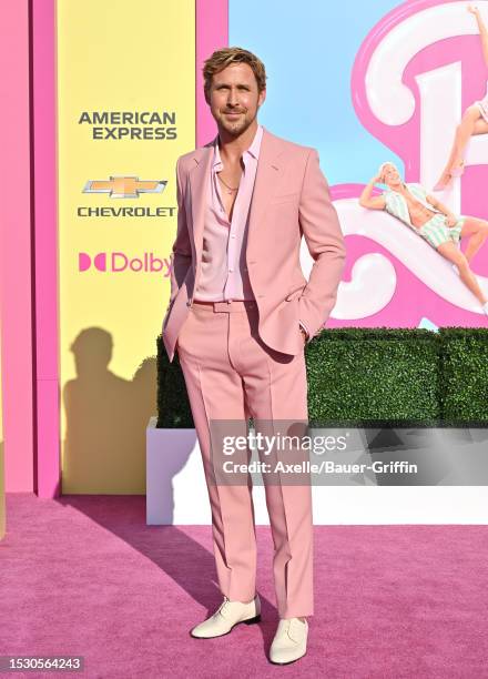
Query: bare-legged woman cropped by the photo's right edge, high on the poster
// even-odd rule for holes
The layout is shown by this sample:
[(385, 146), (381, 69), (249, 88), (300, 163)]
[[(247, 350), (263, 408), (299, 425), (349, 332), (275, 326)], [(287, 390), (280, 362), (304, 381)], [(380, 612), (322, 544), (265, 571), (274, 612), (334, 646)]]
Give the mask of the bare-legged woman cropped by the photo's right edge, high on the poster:
[[(478, 24), (479, 36), (481, 38), (482, 55), (488, 68), (488, 29), (481, 18), (477, 7), (469, 6), (468, 11), (474, 14)], [(456, 129), (453, 150), (449, 160), (443, 170), (439, 181), (434, 186), (434, 191), (444, 191), (454, 178), (461, 176), (465, 171), (465, 162), (462, 155), (466, 145), (474, 134), (488, 133), (488, 88), (485, 98), (481, 101), (475, 101), (468, 107), (462, 115), (462, 120)]]

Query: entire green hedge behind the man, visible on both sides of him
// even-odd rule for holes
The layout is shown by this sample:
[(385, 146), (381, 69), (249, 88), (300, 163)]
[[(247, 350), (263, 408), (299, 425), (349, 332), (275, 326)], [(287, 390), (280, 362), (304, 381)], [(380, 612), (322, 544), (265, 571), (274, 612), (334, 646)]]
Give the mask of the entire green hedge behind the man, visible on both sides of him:
[[(324, 330), (305, 351), (312, 426), (486, 426), (488, 328)], [(157, 338), (157, 427), (193, 427)]]

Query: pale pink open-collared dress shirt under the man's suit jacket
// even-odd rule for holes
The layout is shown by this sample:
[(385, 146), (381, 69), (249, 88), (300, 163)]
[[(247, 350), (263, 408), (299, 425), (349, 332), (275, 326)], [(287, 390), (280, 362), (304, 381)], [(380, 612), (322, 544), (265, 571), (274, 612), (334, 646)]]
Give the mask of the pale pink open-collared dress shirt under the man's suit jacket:
[[(245, 245), (262, 138), (263, 128), (258, 125), (251, 146), (242, 155), (244, 169), (231, 221), (225, 213), (222, 188), (217, 178), (217, 173), (224, 168), (218, 151), (218, 135), (214, 140), (214, 158), (203, 229), (202, 267), (194, 294), (196, 301), (255, 300), (247, 273)], [(301, 325), (308, 334), (302, 322)]]

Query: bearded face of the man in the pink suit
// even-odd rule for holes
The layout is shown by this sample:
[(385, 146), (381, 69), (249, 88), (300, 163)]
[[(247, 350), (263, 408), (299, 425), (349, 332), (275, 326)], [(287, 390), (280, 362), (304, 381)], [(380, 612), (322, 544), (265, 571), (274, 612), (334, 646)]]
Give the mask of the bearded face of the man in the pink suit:
[(233, 63), (212, 78), (207, 103), (218, 129), (238, 136), (255, 120), (266, 91), (257, 91), (256, 78), (248, 63)]

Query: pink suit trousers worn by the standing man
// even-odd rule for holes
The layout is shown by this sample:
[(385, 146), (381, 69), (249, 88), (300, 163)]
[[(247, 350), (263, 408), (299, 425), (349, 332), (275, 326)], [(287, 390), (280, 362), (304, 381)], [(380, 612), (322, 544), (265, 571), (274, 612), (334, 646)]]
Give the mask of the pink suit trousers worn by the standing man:
[[(252, 482), (211, 483), (211, 420), (307, 422), (305, 354), (267, 347), (257, 334), (255, 302), (193, 302), (177, 338), (177, 353), (203, 458), (212, 508), (220, 589), (250, 601), (256, 592), (256, 539)], [(297, 327), (297, 333), (299, 328)], [(312, 488), (266, 484), (274, 544), (273, 575), (281, 618), (312, 616)], [(309, 476), (308, 476), (309, 478)]]

